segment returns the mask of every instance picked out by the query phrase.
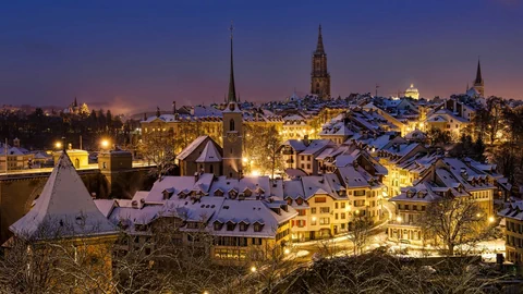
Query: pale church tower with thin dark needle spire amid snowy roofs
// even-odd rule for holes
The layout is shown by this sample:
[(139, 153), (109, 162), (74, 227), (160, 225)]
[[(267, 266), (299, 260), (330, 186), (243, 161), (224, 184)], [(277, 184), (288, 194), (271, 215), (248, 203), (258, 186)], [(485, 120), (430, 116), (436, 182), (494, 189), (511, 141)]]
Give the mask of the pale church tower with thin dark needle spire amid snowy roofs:
[(243, 151), (243, 114), (236, 100), (234, 87), (234, 65), (232, 54), (231, 25), (231, 75), (229, 77), (229, 95), (227, 108), (223, 110), (223, 175), (234, 179), (242, 176)]

